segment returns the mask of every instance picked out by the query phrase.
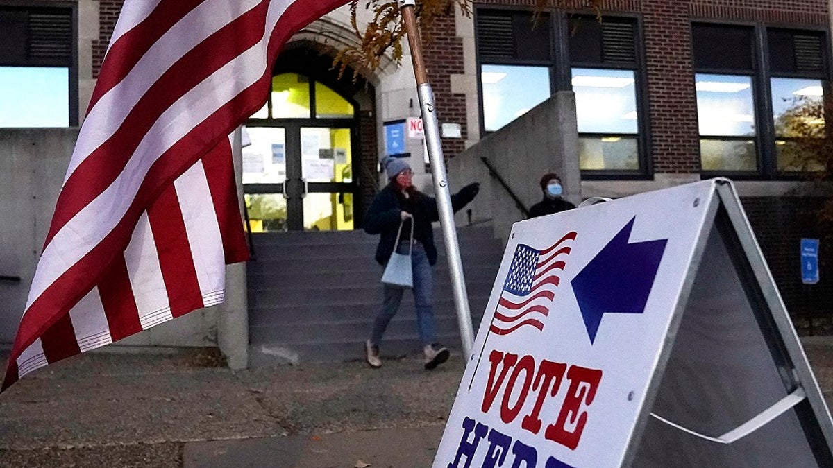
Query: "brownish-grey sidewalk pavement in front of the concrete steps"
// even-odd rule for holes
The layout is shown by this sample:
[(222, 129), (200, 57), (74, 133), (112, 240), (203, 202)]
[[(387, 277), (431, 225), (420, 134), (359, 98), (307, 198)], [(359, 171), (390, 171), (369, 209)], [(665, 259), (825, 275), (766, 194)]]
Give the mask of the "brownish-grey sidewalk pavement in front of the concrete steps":
[[(833, 346), (806, 351), (828, 404)], [(0, 466), (431, 466), (463, 363), (232, 372), (215, 351), (87, 353), (0, 395)], [(4, 361), (3, 361), (4, 362)]]

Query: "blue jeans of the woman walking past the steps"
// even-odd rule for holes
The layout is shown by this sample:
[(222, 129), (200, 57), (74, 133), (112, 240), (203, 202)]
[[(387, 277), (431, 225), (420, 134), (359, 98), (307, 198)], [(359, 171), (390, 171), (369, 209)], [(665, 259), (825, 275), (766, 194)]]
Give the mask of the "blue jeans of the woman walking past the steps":
[[(397, 252), (408, 252), (408, 242), (401, 241), (397, 246)], [(433, 276), (431, 273), (431, 264), (428, 263), (428, 257), (425, 254), (425, 247), (417, 242), (413, 246), (413, 253), (411, 257), (412, 269), (414, 274), (413, 295), (416, 305), (416, 326), (419, 329), (419, 337), (422, 341), (422, 346), (431, 345), (436, 341), (436, 325), (434, 324), (434, 310), (431, 306), (433, 297)], [(405, 292), (404, 287), (384, 285), (385, 301), (382, 302), (382, 310), (373, 321), (373, 331), (371, 332), (370, 341), (374, 345), (378, 345), (382, 341), (382, 335), (387, 329), (387, 324), (391, 322), (393, 316), (399, 310), (399, 304), (402, 302), (402, 294)]]

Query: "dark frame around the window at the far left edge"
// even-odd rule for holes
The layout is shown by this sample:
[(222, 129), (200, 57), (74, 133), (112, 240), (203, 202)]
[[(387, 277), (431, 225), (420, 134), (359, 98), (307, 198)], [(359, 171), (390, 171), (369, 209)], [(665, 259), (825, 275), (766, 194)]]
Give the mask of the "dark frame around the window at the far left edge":
[[(66, 64), (57, 65), (55, 62), (47, 63), (47, 62), (37, 62), (32, 61), (30, 63), (4, 63), (0, 62), (0, 67), (66, 67), (68, 69), (68, 82), (67, 82), (67, 91), (69, 96), (68, 102), (68, 109), (69, 112), (69, 125), (68, 127), (78, 127), (80, 122), (80, 105), (78, 102), (78, 80), (79, 80), (79, 73), (78, 73), (78, 5), (77, 2), (44, 2), (42, 0), (0, 0), (0, 9), (22, 9), (27, 11), (37, 11), (37, 10), (64, 10), (70, 13), (71, 17), (71, 57), (69, 62)], [(22, 44), (22, 47), (26, 47), (26, 44)]]

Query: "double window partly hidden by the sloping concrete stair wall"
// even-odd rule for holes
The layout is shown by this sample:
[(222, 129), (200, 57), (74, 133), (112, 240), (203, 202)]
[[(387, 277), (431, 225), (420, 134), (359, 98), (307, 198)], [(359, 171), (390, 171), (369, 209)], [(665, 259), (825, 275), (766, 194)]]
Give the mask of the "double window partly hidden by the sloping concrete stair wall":
[[(553, 92), (576, 93), (587, 176), (646, 172), (640, 55), (631, 18), (478, 9), (482, 130), (494, 132)], [(568, 44), (562, 50), (560, 44)]]

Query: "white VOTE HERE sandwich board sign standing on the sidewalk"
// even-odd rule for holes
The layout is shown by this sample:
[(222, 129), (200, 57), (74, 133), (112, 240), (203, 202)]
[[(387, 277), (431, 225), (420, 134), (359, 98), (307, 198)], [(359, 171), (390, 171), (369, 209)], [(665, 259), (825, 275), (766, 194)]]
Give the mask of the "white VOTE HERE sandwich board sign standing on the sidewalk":
[(512, 227), (434, 468), (833, 466), (726, 179)]

